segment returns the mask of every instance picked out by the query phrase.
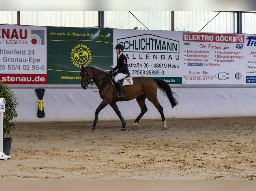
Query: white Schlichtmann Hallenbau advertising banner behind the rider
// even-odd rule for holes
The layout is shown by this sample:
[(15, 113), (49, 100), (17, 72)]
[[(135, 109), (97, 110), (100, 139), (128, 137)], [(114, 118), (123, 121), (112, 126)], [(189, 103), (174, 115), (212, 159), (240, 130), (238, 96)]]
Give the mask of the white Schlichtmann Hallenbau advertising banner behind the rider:
[[(131, 76), (181, 84), (182, 32), (114, 29), (114, 46), (122, 44)], [(116, 66), (117, 55), (114, 53)]]

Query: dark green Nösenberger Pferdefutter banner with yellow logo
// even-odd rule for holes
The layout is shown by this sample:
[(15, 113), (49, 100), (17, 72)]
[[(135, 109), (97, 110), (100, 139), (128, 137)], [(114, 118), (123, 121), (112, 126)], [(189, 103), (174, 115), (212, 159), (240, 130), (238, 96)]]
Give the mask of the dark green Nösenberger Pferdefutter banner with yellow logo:
[(82, 66), (113, 66), (113, 29), (47, 27), (47, 84), (80, 84)]

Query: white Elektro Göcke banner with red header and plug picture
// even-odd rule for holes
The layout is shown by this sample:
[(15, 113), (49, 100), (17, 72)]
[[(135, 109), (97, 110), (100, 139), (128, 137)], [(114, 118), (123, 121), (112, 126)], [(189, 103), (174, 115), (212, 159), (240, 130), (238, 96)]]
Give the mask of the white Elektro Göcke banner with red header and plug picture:
[(243, 34), (182, 33), (182, 84), (244, 84)]

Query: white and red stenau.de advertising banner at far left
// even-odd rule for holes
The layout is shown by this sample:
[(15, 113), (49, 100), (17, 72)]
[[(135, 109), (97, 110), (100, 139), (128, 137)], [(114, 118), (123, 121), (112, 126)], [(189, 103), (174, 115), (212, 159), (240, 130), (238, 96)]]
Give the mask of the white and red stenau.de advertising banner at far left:
[(0, 80), (47, 84), (46, 27), (0, 25)]

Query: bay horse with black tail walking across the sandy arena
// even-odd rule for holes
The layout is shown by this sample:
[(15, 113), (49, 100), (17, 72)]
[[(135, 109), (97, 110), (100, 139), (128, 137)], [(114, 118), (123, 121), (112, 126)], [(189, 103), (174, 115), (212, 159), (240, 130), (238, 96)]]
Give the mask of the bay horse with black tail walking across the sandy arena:
[(117, 87), (111, 84), (112, 76), (113, 75), (108, 74), (104, 71), (101, 71), (95, 67), (82, 66), (82, 69), (80, 72), (81, 87), (86, 90), (89, 82), (93, 80), (93, 82), (99, 89), (100, 97), (103, 99), (95, 111), (95, 118), (94, 118), (93, 127), (92, 127), (93, 131), (97, 128), (96, 124), (98, 123), (99, 112), (108, 104), (114, 109), (117, 116), (120, 118), (123, 125), (121, 130), (122, 131), (126, 130), (126, 127), (125, 127), (126, 122), (122, 117), (116, 102), (128, 101), (132, 99), (137, 100), (141, 109), (140, 114), (134, 121), (134, 124), (133, 124), (133, 128), (134, 128), (136, 125), (138, 125), (139, 120), (148, 110), (145, 104), (146, 98), (148, 98), (148, 100), (151, 101), (159, 111), (162, 118), (162, 122), (163, 122), (162, 130), (167, 130), (168, 127), (166, 126), (163, 107), (160, 105), (160, 103), (157, 100), (157, 88), (159, 88), (162, 91), (162, 93), (164, 93), (168, 97), (172, 107), (177, 105), (178, 101), (173, 97), (173, 92), (171, 91), (170, 86), (165, 81), (159, 80), (159, 79), (147, 78), (147, 77), (133, 78), (133, 85), (123, 86), (123, 93), (125, 97), (118, 97)]

